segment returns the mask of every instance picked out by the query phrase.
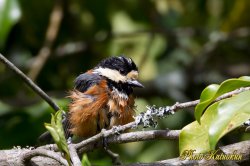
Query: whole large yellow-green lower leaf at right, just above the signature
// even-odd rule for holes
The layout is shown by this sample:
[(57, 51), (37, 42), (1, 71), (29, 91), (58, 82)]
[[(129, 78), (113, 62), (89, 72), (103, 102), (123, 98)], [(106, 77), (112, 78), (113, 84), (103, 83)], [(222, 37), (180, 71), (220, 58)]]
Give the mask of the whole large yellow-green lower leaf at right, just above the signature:
[(221, 137), (250, 119), (250, 91), (210, 105), (197, 121), (185, 126), (179, 139), (180, 153), (185, 150), (207, 152), (215, 149)]

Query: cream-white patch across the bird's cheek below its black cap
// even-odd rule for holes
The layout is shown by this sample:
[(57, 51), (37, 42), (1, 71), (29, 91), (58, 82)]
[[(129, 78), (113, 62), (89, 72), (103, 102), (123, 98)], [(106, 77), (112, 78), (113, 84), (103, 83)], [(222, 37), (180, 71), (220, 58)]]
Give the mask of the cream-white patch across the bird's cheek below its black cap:
[(119, 71), (108, 68), (97, 68), (94, 70), (94, 72), (105, 76), (115, 82), (125, 82), (127, 80), (126, 76), (121, 75)]

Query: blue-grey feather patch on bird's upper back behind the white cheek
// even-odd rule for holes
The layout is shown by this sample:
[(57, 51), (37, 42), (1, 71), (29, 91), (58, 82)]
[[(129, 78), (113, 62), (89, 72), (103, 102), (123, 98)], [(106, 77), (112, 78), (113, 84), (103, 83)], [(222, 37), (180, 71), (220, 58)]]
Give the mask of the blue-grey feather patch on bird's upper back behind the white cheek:
[(75, 89), (80, 92), (85, 92), (89, 87), (98, 84), (101, 81), (101, 76), (98, 74), (84, 73), (79, 75), (75, 80)]

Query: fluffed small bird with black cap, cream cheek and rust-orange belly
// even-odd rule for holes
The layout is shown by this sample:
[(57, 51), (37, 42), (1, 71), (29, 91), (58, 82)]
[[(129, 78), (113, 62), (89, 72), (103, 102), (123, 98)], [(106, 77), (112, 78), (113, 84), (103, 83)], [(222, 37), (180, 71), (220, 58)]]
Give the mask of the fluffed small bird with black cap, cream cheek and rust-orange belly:
[(134, 121), (134, 88), (143, 88), (131, 58), (113, 56), (80, 74), (69, 92), (71, 102), (63, 120), (66, 138), (88, 138), (102, 129)]

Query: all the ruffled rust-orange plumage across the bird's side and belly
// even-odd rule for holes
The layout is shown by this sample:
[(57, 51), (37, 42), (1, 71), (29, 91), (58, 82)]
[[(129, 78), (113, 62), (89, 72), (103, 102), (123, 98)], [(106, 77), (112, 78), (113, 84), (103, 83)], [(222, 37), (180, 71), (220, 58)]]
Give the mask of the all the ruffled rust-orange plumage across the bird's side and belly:
[[(91, 74), (88, 71), (87, 74)], [(80, 137), (97, 134), (101, 129), (132, 122), (134, 97), (122, 97), (118, 91), (108, 86), (108, 80), (102, 79), (95, 85), (81, 92), (77, 89), (70, 92), (72, 99), (69, 105), (70, 132)]]

